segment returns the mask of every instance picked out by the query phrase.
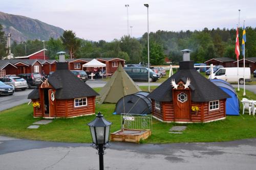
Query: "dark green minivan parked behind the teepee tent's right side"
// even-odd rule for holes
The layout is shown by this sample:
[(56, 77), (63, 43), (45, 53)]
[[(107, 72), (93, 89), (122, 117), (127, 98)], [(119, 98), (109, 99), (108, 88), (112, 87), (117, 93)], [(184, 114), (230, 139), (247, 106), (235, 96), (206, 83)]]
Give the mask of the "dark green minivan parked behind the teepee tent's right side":
[[(124, 67), (124, 70), (133, 80), (147, 81), (148, 68), (145, 67)], [(150, 82), (155, 82), (160, 78), (158, 74), (150, 69)]]

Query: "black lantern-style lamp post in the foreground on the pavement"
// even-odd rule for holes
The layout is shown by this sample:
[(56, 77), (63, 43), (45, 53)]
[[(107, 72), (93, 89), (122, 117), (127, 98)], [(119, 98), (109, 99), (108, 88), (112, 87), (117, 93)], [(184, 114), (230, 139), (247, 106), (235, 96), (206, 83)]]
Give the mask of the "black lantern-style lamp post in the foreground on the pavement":
[(98, 150), (99, 170), (103, 170), (103, 155), (104, 150), (109, 147), (110, 126), (112, 123), (104, 119), (103, 115), (98, 112), (96, 118), (87, 125), (90, 127), (93, 139), (92, 147)]

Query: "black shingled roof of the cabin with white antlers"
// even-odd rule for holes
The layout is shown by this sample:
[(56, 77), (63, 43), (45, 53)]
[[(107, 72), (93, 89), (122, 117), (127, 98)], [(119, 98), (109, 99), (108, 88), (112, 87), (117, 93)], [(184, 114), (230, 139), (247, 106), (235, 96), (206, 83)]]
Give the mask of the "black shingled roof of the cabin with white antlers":
[(230, 98), (227, 93), (197, 72), (194, 69), (193, 61), (181, 61), (179, 71), (158, 86), (147, 97), (160, 102), (173, 101), (171, 80), (174, 79), (177, 84), (180, 80), (186, 81), (187, 78), (191, 81), (189, 88), (191, 89), (191, 101), (193, 102), (209, 102)]

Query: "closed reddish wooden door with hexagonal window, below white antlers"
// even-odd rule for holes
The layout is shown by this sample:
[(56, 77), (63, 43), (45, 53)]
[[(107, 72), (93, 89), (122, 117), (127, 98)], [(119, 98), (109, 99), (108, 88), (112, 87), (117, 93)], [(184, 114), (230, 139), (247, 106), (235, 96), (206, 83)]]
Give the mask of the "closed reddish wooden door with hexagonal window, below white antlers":
[(174, 114), (176, 121), (190, 120), (189, 90), (173, 90)]

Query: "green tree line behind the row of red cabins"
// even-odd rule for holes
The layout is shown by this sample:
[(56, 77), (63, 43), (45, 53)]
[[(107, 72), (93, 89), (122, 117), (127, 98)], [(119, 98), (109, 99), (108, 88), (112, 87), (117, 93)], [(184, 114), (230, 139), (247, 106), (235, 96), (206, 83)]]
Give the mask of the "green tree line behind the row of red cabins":
[[(239, 29), (240, 46), (242, 42), (242, 28)], [(246, 28), (245, 57), (254, 57), (256, 52), (256, 28)], [(0, 25), (0, 56), (6, 54), (6, 40)], [(162, 65), (167, 57), (174, 64), (182, 60), (181, 50), (191, 50), (191, 60), (202, 63), (217, 57), (236, 59), (234, 46), (236, 42), (236, 29), (211, 29), (202, 31), (157, 31), (150, 33), (150, 63)], [(11, 51), (14, 56), (26, 56), (42, 50), (40, 40), (28, 40), (23, 43), (13, 42)], [(104, 40), (88, 41), (76, 37), (76, 34), (67, 30), (58, 39), (50, 38), (45, 41), (47, 56), (57, 59), (56, 53), (65, 51), (67, 58), (121, 58), (126, 63), (137, 64), (147, 62), (147, 33), (141, 38), (122, 36), (111, 42)], [(242, 54), (242, 53), (240, 53)], [(242, 58), (242, 56), (240, 56)]]

